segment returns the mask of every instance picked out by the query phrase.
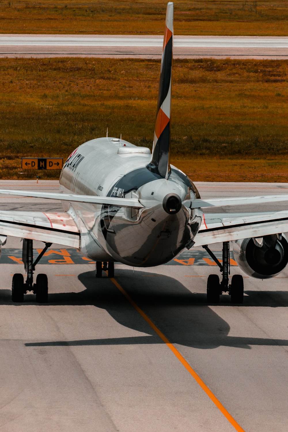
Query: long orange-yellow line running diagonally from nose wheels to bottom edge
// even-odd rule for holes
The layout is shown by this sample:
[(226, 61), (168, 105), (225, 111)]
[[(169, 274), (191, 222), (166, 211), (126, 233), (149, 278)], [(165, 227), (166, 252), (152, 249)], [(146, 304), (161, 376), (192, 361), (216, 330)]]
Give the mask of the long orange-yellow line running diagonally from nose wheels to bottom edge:
[(155, 331), (155, 333), (158, 334), (158, 336), (163, 340), (163, 342), (166, 343), (168, 348), (171, 349), (172, 353), (177, 357), (177, 359), (182, 363), (184, 368), (187, 369), (187, 371), (190, 373), (190, 375), (193, 376), (193, 378), (196, 380), (196, 382), (199, 384), (199, 386), (205, 391), (207, 396), (212, 400), (213, 403), (215, 403), (216, 407), (221, 411), (221, 413), (226, 417), (228, 422), (231, 423), (231, 425), (236, 429), (238, 432), (245, 432), (244, 429), (241, 428), (241, 426), (234, 420), (234, 418), (231, 416), (231, 414), (228, 413), (225, 407), (223, 407), (222, 403), (217, 399), (217, 397), (212, 393), (212, 391), (206, 386), (204, 381), (199, 377), (199, 375), (196, 374), (196, 372), (191, 368), (189, 363), (184, 359), (184, 357), (179, 353), (179, 351), (175, 348), (175, 346), (169, 342), (166, 336), (158, 329), (158, 327), (155, 326), (155, 324), (148, 318), (148, 316), (145, 314), (145, 312), (142, 311), (142, 309), (139, 308), (138, 305), (131, 299), (130, 295), (127, 294), (127, 292), (122, 288), (122, 286), (117, 282), (117, 280), (114, 279), (114, 277), (110, 278), (111, 282), (114, 283), (114, 285), (119, 289), (120, 292), (126, 297), (128, 302), (133, 306), (134, 309), (136, 309), (137, 312), (142, 316), (142, 318), (145, 319), (145, 321), (149, 324), (149, 326)]

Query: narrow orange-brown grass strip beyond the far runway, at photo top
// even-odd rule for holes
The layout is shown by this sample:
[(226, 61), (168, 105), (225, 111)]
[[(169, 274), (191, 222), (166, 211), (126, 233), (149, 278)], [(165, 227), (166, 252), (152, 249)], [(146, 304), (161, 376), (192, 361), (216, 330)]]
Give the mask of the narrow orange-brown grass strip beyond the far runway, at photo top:
[[(1, 0), (1, 33), (162, 35), (163, 0)], [(176, 35), (286, 36), (283, 0), (174, 0)]]

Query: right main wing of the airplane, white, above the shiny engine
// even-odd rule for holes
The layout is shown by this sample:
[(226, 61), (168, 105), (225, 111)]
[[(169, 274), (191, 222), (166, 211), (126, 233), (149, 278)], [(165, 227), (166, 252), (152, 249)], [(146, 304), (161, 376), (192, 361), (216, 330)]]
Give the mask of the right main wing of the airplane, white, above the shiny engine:
[(287, 231), (286, 210), (262, 213), (206, 213), (203, 214), (193, 247)]

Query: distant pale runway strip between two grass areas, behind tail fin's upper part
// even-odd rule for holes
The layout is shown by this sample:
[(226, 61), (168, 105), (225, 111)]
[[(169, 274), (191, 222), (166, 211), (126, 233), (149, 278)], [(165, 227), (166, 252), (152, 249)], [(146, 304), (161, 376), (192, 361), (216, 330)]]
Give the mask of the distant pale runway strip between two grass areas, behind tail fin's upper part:
[[(162, 36), (0, 35), (0, 57), (160, 58)], [(174, 58), (288, 58), (288, 37), (174, 36)]]

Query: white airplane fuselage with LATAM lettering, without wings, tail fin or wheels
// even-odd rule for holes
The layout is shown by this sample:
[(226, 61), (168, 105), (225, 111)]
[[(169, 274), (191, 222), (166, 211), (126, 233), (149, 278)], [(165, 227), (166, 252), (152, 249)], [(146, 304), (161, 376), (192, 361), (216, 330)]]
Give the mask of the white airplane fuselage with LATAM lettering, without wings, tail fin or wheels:
[[(201, 210), (189, 208), (191, 200), (199, 198), (196, 187), (172, 165), (168, 179), (151, 172), (146, 166), (150, 159), (148, 148), (106, 137), (88, 141), (71, 153), (60, 175), (60, 193), (137, 196), (144, 206), (134, 209), (62, 201), (80, 230), (83, 255), (152, 267), (193, 244), (202, 221)], [(165, 210), (169, 194), (180, 197), (174, 214)]]

